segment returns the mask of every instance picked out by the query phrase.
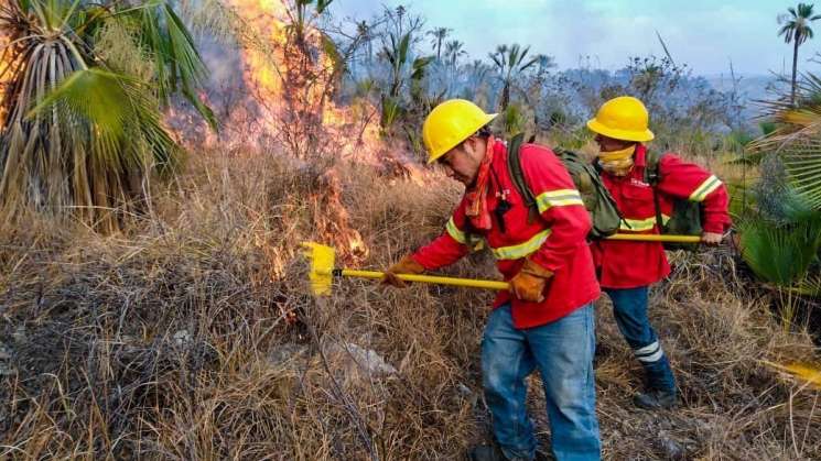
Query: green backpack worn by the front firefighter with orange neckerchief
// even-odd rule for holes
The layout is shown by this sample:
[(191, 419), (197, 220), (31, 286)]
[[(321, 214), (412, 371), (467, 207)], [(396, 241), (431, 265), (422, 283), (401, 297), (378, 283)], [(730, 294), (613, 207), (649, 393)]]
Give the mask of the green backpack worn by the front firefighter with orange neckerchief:
[[(521, 171), (521, 162), (519, 161), (519, 149), (521, 147), (523, 138), (523, 134), (517, 134), (508, 142), (507, 167), (516, 189), (531, 210), (530, 217), (532, 219), (532, 217), (539, 215), (539, 209), (533, 193), (525, 182), (525, 174)], [(613, 196), (611, 196), (611, 193), (604, 186), (604, 183), (602, 183), (602, 178), (598, 176), (595, 167), (574, 152), (563, 150), (555, 150), (554, 152), (564, 164), (564, 167), (568, 168), (573, 184), (582, 196), (584, 207), (591, 216), (593, 228), (588, 237), (591, 239), (603, 239), (616, 233), (622, 223), (622, 213), (618, 211)]]

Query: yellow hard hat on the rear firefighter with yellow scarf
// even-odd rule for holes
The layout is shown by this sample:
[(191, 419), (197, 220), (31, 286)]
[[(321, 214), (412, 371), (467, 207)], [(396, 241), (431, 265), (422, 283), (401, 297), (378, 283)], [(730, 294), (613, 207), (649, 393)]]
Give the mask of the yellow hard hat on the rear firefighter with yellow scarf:
[(596, 117), (587, 120), (587, 128), (615, 140), (645, 142), (655, 138), (647, 128), (649, 119), (647, 108), (640, 100), (619, 96), (603, 103)]

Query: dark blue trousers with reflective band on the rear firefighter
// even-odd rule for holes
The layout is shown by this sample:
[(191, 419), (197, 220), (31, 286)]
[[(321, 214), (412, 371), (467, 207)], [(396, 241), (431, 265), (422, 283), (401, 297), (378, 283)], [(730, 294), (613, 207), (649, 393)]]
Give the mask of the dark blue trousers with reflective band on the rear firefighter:
[(613, 316), (636, 359), (641, 363), (650, 389), (676, 392), (676, 378), (670, 361), (661, 349), (659, 338), (647, 317), (649, 287), (615, 289), (605, 293), (613, 300)]

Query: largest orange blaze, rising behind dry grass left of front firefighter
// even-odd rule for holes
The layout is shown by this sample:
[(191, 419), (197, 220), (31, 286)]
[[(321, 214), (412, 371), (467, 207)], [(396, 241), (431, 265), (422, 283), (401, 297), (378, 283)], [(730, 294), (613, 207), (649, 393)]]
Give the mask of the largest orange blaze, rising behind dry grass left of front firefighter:
[[(306, 55), (304, 48), (294, 46), (294, 30), (289, 24), (295, 14), (283, 0), (229, 3), (251, 37), (242, 41), (240, 51), (242, 81), (259, 106), (259, 113), (247, 112), (240, 116), (246, 120), (227, 123), (255, 127), (251, 133), (228, 136), (229, 143), (241, 145), (268, 135), (282, 139), (279, 134), (289, 125), (318, 123), (321, 133), (312, 134), (321, 136), (323, 150), (331, 155), (376, 166), (389, 177), (410, 178), (420, 185), (430, 180), (430, 172), (409, 157), (403, 142), (391, 140), (389, 144), (381, 138), (379, 109), (372, 102), (367, 98), (345, 106), (333, 102), (335, 63), (325, 53), (321, 31), (305, 28), (303, 40), (311, 50)], [(298, 116), (289, 117), (289, 111)]]

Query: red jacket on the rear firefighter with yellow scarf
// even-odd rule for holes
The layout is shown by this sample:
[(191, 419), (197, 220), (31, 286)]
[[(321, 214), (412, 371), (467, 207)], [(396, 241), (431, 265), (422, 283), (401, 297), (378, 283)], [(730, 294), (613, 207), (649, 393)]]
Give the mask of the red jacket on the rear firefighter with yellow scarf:
[[(605, 187), (625, 218), (619, 232), (659, 233), (652, 187), (644, 182), (646, 156), (647, 147), (639, 145), (630, 174), (617, 177), (602, 173)], [(659, 182), (656, 188), (662, 219), (669, 219), (672, 215), (673, 198), (685, 198), (703, 204), (704, 231), (723, 233), (730, 228), (727, 189), (706, 169), (687, 163), (674, 154), (663, 155), (659, 161)], [(593, 244), (593, 256), (603, 288), (647, 286), (670, 273), (661, 243), (602, 240)]]

